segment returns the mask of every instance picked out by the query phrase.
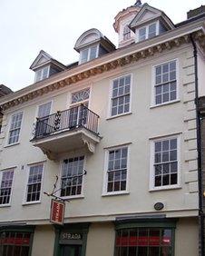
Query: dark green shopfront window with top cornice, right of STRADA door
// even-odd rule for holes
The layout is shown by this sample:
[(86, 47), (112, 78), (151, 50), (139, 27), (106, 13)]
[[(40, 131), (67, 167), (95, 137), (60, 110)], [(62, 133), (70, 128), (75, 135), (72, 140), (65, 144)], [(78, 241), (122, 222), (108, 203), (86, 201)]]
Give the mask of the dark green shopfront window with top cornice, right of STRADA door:
[(173, 256), (174, 222), (117, 222), (115, 256)]

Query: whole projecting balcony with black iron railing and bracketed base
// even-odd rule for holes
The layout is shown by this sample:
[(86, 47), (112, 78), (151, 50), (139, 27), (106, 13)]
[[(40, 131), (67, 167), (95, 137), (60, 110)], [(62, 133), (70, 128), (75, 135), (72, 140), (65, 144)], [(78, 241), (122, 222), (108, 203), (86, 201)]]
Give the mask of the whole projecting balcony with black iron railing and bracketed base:
[(83, 147), (94, 152), (100, 142), (98, 120), (99, 115), (84, 105), (37, 118), (32, 143), (52, 160), (59, 153)]

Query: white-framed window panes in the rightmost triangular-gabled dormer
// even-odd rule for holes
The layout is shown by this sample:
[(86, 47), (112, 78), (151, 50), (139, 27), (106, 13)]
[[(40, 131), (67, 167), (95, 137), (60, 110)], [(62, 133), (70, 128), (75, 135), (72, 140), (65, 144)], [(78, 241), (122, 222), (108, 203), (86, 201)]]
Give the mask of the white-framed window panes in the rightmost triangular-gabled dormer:
[(142, 28), (139, 28), (138, 32), (138, 41), (141, 42), (143, 40), (152, 38), (159, 34), (159, 29), (157, 23), (153, 23), (151, 25), (143, 26)]

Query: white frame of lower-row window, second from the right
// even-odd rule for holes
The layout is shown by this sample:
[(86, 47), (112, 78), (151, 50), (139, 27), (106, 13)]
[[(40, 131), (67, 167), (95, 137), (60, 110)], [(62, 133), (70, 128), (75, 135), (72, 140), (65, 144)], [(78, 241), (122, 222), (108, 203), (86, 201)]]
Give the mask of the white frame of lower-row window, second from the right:
[[(112, 150), (118, 150), (122, 148), (127, 148), (127, 178), (126, 178), (126, 190), (124, 191), (116, 191), (116, 192), (107, 192), (107, 176), (108, 176), (108, 161), (109, 161), (109, 152)], [(130, 143), (125, 143), (119, 146), (113, 146), (106, 148), (104, 150), (104, 167), (103, 167), (103, 183), (102, 183), (102, 196), (112, 196), (112, 195), (121, 195), (129, 193), (129, 185), (130, 185)]]

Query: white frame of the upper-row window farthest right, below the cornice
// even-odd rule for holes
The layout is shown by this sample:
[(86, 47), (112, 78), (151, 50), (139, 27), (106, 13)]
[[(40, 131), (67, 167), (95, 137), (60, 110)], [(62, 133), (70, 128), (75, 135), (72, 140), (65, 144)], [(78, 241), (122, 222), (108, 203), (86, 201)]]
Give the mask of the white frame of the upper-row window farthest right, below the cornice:
[[(169, 102), (165, 102), (165, 103), (159, 103), (156, 104), (155, 102), (155, 68), (159, 65), (162, 64), (168, 64), (171, 62), (176, 62), (176, 99), (169, 101)], [(171, 104), (171, 103), (178, 103), (180, 102), (180, 64), (179, 64), (179, 59), (175, 58), (175, 59), (169, 59), (167, 61), (161, 62), (159, 64), (153, 64), (151, 67), (151, 84), (152, 84), (152, 90), (151, 90), (151, 108), (152, 107), (158, 107), (158, 106), (163, 106), (163, 105), (167, 105), (167, 104)]]

